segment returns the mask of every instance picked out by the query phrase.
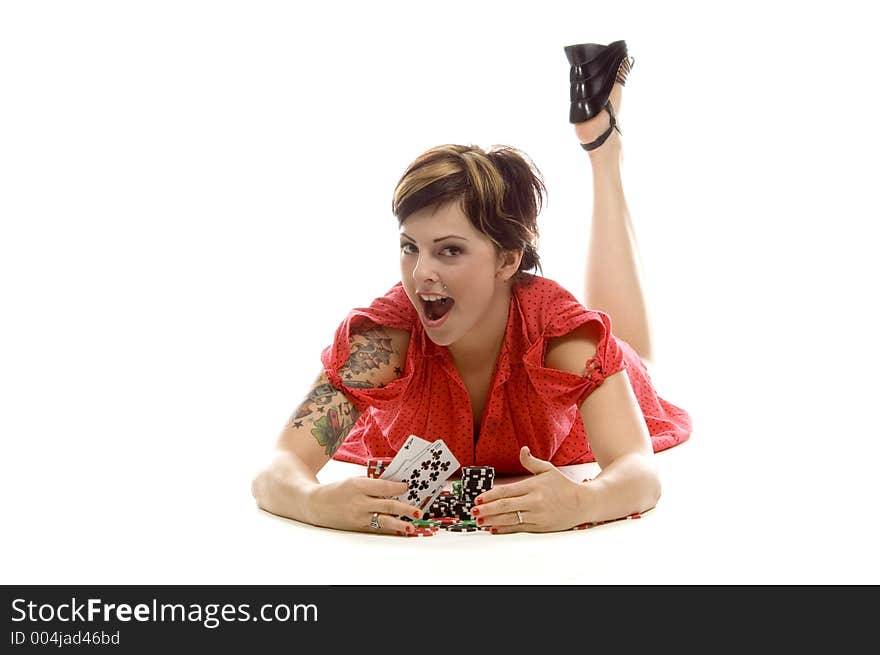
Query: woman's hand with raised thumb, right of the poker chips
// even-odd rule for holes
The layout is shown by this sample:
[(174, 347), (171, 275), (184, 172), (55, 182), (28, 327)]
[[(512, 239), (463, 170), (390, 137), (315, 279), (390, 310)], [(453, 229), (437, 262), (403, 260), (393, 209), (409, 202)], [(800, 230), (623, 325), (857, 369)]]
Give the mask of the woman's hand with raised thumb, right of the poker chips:
[(520, 448), (519, 460), (534, 475), (477, 496), (471, 513), (478, 525), (504, 534), (556, 532), (584, 522), (584, 485), (565, 477), (550, 462), (532, 457), (528, 446)]

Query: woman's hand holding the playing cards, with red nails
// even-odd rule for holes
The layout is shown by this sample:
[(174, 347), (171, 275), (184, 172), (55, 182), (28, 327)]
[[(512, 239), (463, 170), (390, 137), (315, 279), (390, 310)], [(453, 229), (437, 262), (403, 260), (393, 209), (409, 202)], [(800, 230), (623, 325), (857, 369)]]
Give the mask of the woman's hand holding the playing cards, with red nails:
[[(413, 526), (398, 516), (421, 518), (417, 507), (390, 498), (409, 489), (406, 482), (380, 478), (347, 478), (317, 485), (310, 498), (312, 523), (338, 530), (407, 534)], [(373, 512), (379, 514), (379, 529), (371, 528)]]

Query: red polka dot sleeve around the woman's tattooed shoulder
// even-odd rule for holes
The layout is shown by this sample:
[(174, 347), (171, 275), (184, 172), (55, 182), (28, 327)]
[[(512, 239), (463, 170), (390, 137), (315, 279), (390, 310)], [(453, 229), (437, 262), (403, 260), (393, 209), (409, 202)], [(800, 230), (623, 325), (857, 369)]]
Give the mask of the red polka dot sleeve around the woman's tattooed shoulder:
[(353, 382), (346, 383), (339, 375), (339, 369), (348, 361), (351, 354), (351, 334), (366, 324), (381, 325), (403, 330), (410, 330), (416, 319), (415, 309), (401, 283), (395, 284), (384, 296), (376, 298), (369, 307), (352, 309), (348, 316), (336, 328), (333, 343), (321, 353), (321, 363), (330, 384), (342, 391), (360, 412), (368, 407), (387, 409), (388, 405), (398, 401), (401, 390), (412, 377), (412, 364), (407, 357), (406, 370), (398, 379), (384, 387), (364, 388)]

